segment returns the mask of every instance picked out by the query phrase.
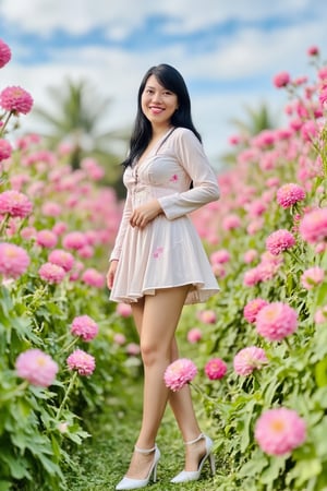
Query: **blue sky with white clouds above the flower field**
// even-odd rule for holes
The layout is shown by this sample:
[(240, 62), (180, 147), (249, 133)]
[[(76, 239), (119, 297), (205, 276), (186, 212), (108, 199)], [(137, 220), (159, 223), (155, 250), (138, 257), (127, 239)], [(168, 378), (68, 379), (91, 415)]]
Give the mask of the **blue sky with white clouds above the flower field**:
[[(324, 0), (0, 0), (0, 37), (13, 53), (0, 87), (21, 85), (51, 107), (49, 85), (87, 79), (112, 97), (106, 124), (114, 129), (133, 122), (145, 71), (173, 64), (215, 160), (244, 105), (281, 111), (287, 96), (274, 88), (274, 74), (311, 74), (306, 50), (324, 52), (326, 25)], [(22, 123), (32, 128), (33, 113)]]

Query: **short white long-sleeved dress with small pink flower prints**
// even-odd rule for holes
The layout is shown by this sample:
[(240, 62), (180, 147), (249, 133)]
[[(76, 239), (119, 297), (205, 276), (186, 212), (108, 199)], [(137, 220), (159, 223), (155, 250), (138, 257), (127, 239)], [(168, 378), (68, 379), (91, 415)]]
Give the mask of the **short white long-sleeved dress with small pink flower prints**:
[[(191, 181), (193, 188), (190, 189)], [(217, 178), (194, 133), (177, 128), (162, 136), (140, 166), (123, 175), (128, 189), (111, 260), (119, 260), (110, 300), (131, 303), (158, 288), (191, 285), (185, 303), (205, 302), (219, 291), (189, 213), (219, 197)], [(164, 211), (144, 229), (132, 211), (157, 199)]]

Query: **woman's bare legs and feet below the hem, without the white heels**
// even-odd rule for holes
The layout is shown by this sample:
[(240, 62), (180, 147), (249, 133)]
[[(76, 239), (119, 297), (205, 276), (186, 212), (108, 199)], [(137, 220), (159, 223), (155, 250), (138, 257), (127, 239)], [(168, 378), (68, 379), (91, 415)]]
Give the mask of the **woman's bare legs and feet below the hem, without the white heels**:
[[(132, 304), (145, 370), (144, 414), (137, 440), (137, 446), (141, 448), (154, 446), (168, 396), (183, 440), (194, 440), (201, 433), (189, 386), (178, 393), (172, 393), (164, 384), (166, 367), (178, 358), (174, 332), (186, 292), (187, 288), (159, 290), (155, 297), (145, 297), (140, 302)], [(160, 314), (161, 312), (165, 314)], [(196, 470), (204, 454), (204, 441), (187, 446), (185, 470)], [(128, 476), (144, 478), (152, 462), (152, 454), (134, 454)]]

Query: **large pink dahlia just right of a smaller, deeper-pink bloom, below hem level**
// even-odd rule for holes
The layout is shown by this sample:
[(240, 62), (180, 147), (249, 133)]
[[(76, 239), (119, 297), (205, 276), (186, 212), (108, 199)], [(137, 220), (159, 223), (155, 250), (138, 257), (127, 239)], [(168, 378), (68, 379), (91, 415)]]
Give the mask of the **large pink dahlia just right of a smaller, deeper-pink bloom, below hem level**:
[(281, 340), (298, 328), (298, 313), (287, 303), (272, 302), (256, 316), (256, 332), (268, 340)]

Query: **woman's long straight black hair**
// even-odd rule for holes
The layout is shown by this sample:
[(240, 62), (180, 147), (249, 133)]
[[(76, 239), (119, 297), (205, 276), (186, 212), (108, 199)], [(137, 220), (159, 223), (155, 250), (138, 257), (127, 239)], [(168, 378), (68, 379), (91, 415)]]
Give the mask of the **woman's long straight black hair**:
[(122, 163), (124, 167), (132, 166), (133, 161), (141, 157), (152, 139), (152, 123), (144, 116), (141, 105), (142, 94), (150, 75), (154, 75), (162, 87), (171, 91), (178, 97), (179, 108), (171, 117), (171, 124), (175, 128), (187, 128), (193, 131), (199, 141), (202, 141), (201, 135), (192, 121), (191, 99), (186, 84), (180, 72), (166, 63), (152, 67), (144, 75), (138, 88), (137, 113), (130, 140), (130, 152), (126, 159)]

